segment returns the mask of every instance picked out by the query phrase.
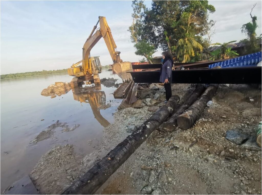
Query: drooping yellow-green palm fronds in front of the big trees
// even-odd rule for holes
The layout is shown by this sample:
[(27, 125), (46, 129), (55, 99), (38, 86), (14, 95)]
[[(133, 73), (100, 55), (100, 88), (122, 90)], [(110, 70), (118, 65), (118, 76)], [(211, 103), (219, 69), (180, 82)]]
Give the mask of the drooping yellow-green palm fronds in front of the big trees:
[(183, 57), (182, 63), (190, 61), (190, 57), (195, 56), (194, 49), (203, 51), (203, 46), (195, 40), (192, 33), (185, 33), (184, 37), (177, 42), (177, 58)]

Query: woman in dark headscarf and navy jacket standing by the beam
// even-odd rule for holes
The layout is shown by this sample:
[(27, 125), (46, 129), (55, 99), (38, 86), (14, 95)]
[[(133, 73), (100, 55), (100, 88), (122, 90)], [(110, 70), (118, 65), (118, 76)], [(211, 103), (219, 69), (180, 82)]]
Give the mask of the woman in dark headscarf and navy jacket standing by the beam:
[(165, 51), (162, 53), (163, 57), (163, 65), (160, 68), (160, 82), (164, 83), (164, 87), (166, 90), (166, 101), (172, 96), (171, 91), (171, 83), (172, 83), (172, 66), (173, 66), (173, 59), (171, 53), (169, 51)]

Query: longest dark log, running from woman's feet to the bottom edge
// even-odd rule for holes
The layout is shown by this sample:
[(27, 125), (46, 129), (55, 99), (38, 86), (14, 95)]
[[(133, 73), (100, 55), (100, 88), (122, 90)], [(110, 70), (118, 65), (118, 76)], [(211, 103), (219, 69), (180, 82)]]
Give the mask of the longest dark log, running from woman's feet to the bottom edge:
[(75, 181), (62, 194), (93, 194), (120, 167), (131, 154), (160, 124), (172, 114), (178, 104), (179, 96), (172, 96), (137, 131), (119, 143), (105, 157), (88, 170), (79, 180)]

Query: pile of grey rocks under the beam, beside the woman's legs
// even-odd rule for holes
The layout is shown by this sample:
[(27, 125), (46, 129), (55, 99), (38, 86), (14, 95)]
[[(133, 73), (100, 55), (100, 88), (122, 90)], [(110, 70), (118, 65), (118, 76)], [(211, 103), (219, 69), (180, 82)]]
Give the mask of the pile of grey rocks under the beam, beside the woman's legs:
[(155, 106), (166, 100), (165, 92), (164, 86), (157, 83), (140, 84), (137, 90), (138, 100), (133, 103), (132, 107)]

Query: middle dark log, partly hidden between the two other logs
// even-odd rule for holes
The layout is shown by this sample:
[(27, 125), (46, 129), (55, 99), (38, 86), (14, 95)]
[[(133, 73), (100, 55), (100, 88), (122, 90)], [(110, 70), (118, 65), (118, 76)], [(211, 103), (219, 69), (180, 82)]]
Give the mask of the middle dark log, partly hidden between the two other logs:
[(168, 121), (163, 123), (163, 130), (165, 132), (171, 132), (176, 130), (177, 127), (177, 117), (181, 115), (185, 110), (188, 109), (189, 106), (191, 106), (198, 97), (204, 92), (205, 87), (204, 85), (198, 84), (196, 85), (195, 90), (192, 92), (192, 94), (188, 97), (187, 100), (184, 101), (184, 103), (179, 107), (179, 109), (168, 119)]

